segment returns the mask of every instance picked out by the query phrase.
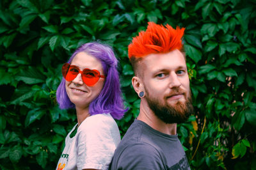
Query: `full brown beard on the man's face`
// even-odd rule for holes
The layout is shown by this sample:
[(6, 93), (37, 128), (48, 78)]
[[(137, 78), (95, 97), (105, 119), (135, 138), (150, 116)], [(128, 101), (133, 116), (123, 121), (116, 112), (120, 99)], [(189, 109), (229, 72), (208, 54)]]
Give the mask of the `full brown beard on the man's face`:
[[(158, 98), (149, 95), (147, 89), (145, 89), (145, 92), (147, 93), (145, 99), (148, 107), (164, 123), (184, 123), (194, 111), (191, 91), (189, 91), (189, 96), (185, 102), (178, 101), (175, 104), (168, 104), (166, 100), (164, 100), (164, 104), (161, 104)], [(167, 97), (164, 97), (164, 99), (167, 99)]]

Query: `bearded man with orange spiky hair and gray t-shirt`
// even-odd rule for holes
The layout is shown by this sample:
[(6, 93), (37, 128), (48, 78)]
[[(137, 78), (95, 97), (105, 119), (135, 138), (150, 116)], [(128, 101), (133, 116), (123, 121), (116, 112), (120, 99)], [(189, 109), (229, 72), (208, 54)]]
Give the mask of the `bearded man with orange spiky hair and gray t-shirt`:
[(141, 98), (140, 114), (116, 148), (109, 169), (190, 169), (177, 123), (193, 112), (186, 59), (180, 51), (184, 28), (148, 22), (128, 47)]

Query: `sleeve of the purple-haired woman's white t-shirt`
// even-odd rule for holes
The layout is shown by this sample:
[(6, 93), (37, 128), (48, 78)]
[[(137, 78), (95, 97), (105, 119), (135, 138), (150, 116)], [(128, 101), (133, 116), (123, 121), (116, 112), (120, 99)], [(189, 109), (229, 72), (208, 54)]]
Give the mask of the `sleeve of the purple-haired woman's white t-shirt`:
[(77, 169), (108, 169), (119, 142), (115, 120), (91, 118), (79, 132)]

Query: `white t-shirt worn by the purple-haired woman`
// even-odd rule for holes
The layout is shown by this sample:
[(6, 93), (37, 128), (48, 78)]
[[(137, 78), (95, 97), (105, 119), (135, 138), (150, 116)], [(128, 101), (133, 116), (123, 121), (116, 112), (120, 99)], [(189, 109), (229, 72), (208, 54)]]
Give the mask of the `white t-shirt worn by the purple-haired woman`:
[[(95, 114), (77, 124), (65, 139), (65, 148), (56, 170), (67, 169), (108, 169), (117, 145), (120, 132), (110, 114)], [(74, 134), (74, 132), (73, 132)]]

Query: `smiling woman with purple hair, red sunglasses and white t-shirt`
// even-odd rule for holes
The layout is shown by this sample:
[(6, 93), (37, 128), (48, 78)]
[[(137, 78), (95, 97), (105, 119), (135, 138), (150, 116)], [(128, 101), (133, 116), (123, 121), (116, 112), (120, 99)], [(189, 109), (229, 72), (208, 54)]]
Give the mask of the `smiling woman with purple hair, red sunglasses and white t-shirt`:
[(62, 66), (56, 97), (61, 109), (75, 107), (77, 124), (65, 139), (56, 169), (108, 169), (120, 132), (115, 119), (126, 111), (113, 50), (85, 43)]

